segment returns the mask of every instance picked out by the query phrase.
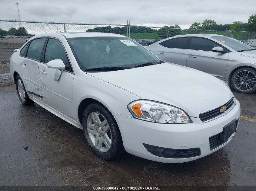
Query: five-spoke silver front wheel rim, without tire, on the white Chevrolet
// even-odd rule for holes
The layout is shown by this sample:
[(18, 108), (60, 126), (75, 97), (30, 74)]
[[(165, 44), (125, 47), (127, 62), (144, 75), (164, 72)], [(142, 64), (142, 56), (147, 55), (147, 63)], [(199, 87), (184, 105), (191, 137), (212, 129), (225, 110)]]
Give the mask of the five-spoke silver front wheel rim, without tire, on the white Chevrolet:
[(87, 131), (94, 144), (101, 152), (107, 152), (111, 147), (112, 134), (105, 117), (98, 112), (92, 112), (87, 119)]

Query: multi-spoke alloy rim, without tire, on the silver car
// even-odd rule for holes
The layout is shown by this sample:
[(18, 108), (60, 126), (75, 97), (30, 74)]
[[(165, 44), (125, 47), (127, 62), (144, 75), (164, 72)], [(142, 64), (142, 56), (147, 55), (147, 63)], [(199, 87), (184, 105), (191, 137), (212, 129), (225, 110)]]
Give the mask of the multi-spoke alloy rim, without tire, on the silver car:
[(238, 72), (233, 80), (235, 88), (240, 91), (250, 91), (256, 86), (256, 76), (248, 70)]

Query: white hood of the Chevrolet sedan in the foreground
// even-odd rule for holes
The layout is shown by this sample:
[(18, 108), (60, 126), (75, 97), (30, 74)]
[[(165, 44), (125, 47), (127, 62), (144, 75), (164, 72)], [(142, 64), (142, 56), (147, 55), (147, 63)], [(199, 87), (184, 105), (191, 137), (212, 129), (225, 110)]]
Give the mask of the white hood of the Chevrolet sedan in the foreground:
[(139, 68), (88, 73), (123, 88), (145, 100), (181, 108), (189, 116), (213, 110), (227, 103), (232, 92), (218, 78), (171, 63)]

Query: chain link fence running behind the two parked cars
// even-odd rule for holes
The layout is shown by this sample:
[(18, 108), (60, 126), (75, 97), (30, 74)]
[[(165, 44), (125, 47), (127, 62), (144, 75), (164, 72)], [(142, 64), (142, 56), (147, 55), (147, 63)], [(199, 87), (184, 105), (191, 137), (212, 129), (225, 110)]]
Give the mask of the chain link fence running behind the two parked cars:
[(176, 35), (207, 33), (232, 37), (248, 45), (256, 46), (256, 32), (145, 27), (131, 25), (130, 21), (126, 24), (82, 24), (0, 20), (0, 64), (9, 63), (13, 50), (20, 48), (32, 36), (55, 32), (116, 33), (135, 39), (142, 45), (150, 45)]

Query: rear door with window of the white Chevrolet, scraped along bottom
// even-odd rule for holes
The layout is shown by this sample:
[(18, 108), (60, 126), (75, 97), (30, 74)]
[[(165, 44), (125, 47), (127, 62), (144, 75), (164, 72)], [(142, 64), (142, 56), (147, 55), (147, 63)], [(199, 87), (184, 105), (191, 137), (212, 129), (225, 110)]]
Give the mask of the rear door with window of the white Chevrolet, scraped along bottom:
[(28, 47), (20, 51), (20, 71), (27, 93), (36, 99), (42, 100), (38, 85), (39, 63), (42, 58), (42, 49), (46, 38), (32, 40)]

